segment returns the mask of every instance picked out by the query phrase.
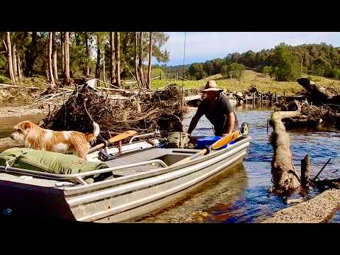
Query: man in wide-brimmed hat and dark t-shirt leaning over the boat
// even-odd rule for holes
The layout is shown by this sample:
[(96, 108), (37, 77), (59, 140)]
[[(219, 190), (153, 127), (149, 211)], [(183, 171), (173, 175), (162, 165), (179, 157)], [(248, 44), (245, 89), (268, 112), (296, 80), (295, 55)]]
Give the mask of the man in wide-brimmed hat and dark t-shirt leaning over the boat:
[(214, 125), (215, 135), (217, 136), (230, 135), (233, 131), (238, 130), (237, 116), (222, 91), (223, 89), (218, 89), (215, 81), (207, 82), (205, 89), (201, 91), (205, 93), (206, 98), (200, 103), (196, 115), (191, 119), (188, 128), (189, 135), (196, 128), (198, 120), (203, 115)]

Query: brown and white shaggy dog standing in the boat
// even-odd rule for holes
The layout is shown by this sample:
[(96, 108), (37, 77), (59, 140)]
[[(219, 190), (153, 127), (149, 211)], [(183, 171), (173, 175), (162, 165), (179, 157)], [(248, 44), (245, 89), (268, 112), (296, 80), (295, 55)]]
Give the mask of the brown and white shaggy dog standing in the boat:
[(86, 159), (89, 151), (89, 142), (96, 140), (100, 129), (97, 123), (93, 123), (94, 132), (84, 134), (77, 131), (53, 131), (40, 128), (38, 125), (26, 120), (14, 127), (11, 138), (22, 142), (25, 147), (40, 149), (50, 152), (72, 152), (82, 159)]

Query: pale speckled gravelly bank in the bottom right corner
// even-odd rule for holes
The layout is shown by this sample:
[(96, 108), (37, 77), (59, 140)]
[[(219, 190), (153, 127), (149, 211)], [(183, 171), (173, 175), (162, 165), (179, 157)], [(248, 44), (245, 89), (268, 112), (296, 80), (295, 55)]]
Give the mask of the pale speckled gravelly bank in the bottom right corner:
[(340, 208), (340, 190), (331, 189), (303, 203), (274, 213), (261, 223), (320, 223), (327, 222)]

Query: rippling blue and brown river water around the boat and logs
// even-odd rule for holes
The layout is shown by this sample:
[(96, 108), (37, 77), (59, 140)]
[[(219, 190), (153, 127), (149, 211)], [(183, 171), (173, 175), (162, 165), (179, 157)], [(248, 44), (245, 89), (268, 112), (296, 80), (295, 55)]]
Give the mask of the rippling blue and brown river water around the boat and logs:
[[(192, 109), (183, 120), (186, 127), (195, 112), (196, 109)], [(269, 127), (267, 133), (266, 120), (270, 118), (272, 110), (237, 108), (236, 113), (240, 125), (244, 121), (250, 125), (251, 146), (244, 161), (195, 192), (183, 196), (176, 203), (137, 222), (261, 222), (273, 215), (273, 212), (290, 206), (285, 205), (282, 198), (268, 193), (272, 185), (273, 147), (269, 142), (272, 129)], [(24, 117), (35, 122), (40, 118), (40, 115)], [(11, 132), (11, 127), (21, 120), (23, 118), (0, 119), (0, 137), (6, 137)], [(288, 132), (298, 173), (300, 160), (305, 154), (309, 154), (311, 176), (317, 174), (331, 157), (331, 162), (319, 178), (339, 178), (340, 132), (336, 130), (288, 130)], [(204, 116), (193, 131), (193, 135), (213, 135), (211, 124)], [(312, 191), (310, 197), (316, 194), (317, 191)], [(340, 212), (337, 212), (329, 222), (340, 222)]]

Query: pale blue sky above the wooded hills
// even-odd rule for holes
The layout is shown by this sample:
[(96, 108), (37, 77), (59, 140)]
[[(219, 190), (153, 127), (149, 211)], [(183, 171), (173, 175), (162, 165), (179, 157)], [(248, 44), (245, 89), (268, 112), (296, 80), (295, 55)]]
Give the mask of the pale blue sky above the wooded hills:
[[(169, 32), (164, 49), (170, 52), (168, 65), (183, 64), (184, 32)], [(188, 32), (185, 64), (226, 57), (232, 52), (270, 49), (280, 42), (288, 45), (326, 42), (340, 47), (339, 32)], [(157, 62), (155, 63), (157, 64)]]

